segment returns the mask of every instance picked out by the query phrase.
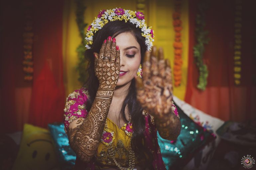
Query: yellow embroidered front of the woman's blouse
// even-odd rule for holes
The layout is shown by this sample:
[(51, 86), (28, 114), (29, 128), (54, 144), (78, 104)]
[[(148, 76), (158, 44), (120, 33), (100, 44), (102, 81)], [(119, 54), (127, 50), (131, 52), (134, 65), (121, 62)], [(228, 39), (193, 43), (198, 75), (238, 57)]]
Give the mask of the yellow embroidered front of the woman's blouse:
[[(113, 147), (115, 159), (121, 166), (128, 166), (131, 136), (128, 136), (122, 128), (119, 129), (119, 127), (109, 118), (106, 119), (106, 122), (108, 130), (110, 130), (109, 132), (113, 132), (113, 142), (111, 145)], [(104, 142), (100, 142), (98, 145), (96, 161), (103, 166), (100, 167), (101, 169), (115, 166), (115, 163), (111, 155), (109, 155), (107, 148), (108, 146), (106, 146)], [(139, 162), (137, 159), (135, 159), (135, 164), (137, 163)], [(98, 169), (97, 165), (95, 166), (95, 169)]]

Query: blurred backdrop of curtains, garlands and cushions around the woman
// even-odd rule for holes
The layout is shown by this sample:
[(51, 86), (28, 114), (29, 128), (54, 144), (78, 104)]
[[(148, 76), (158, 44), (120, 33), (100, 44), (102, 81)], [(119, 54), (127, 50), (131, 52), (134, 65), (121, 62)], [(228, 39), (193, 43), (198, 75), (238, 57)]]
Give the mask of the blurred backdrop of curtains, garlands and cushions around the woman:
[(255, 0), (2, 0), (0, 169), (74, 164), (66, 97), (87, 77), (87, 28), (116, 7), (143, 12), (171, 62), (182, 132), (159, 138), (168, 168), (244, 169), (242, 156), (256, 154)]

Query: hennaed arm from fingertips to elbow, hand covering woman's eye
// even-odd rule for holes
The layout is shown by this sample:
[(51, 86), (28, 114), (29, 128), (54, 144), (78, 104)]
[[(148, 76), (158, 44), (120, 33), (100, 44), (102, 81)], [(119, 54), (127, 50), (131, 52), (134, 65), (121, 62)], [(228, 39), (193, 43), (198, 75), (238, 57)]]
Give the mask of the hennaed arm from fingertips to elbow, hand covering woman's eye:
[[(67, 134), (70, 146), (75, 151), (77, 157), (84, 162), (89, 162), (97, 151), (119, 78), (120, 51), (113, 48), (115, 45), (114, 42), (112, 43), (111, 40), (108, 40), (107, 43), (102, 44), (99, 55), (94, 53), (95, 75), (99, 80), (99, 88), (95, 100), (87, 117), (75, 120), (68, 128)], [(110, 48), (111, 46), (112, 48)], [(112, 56), (117, 58), (116, 62), (110, 59), (103, 59), (103, 56), (110, 55), (110, 51), (112, 51), (111, 55), (116, 54), (116, 56)]]

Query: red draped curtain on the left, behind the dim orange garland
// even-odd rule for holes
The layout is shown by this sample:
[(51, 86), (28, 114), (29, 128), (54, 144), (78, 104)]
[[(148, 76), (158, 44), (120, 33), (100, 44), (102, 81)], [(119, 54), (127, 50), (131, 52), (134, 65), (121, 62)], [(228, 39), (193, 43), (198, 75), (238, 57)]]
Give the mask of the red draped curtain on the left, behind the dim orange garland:
[[(64, 109), (62, 22), (63, 1), (31, 1), (34, 80), (24, 81), (22, 61), (25, 8), (23, 1), (1, 1), (0, 103), (1, 132), (22, 130), (24, 123), (47, 127), (61, 122)], [(24, 88), (31, 92), (24, 93)], [(23, 90), (20, 92), (20, 90)], [(19, 94), (24, 94), (19, 96)], [(31, 95), (31, 96), (30, 96)], [(31, 99), (31, 100), (30, 100)], [(30, 100), (29, 118), (15, 102)], [(27, 101), (29, 103), (29, 101)], [(19, 107), (22, 104), (19, 103)], [(28, 107), (29, 108), (29, 107)], [(23, 114), (24, 112), (22, 112)]]

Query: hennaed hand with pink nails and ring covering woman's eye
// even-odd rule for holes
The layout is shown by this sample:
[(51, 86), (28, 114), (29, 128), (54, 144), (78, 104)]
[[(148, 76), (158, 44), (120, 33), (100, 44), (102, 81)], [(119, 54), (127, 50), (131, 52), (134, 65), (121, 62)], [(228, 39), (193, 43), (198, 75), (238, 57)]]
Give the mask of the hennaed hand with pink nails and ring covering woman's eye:
[(99, 80), (99, 90), (115, 90), (120, 71), (120, 50), (115, 38), (105, 40), (99, 54), (94, 52), (94, 71)]

